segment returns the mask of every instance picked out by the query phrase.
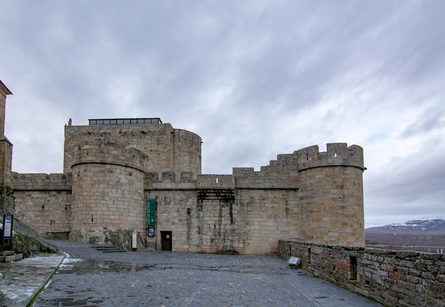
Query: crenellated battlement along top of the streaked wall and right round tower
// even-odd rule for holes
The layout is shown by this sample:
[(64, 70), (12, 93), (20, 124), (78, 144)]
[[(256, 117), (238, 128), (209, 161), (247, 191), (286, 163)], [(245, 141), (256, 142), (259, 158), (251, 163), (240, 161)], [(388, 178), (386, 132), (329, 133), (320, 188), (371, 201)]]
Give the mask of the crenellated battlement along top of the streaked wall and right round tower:
[[(318, 146), (294, 151), (294, 154), (279, 154), (277, 160), (254, 168), (233, 168), (232, 175), (200, 175), (193, 180), (193, 174), (183, 172), (176, 178), (173, 172), (146, 173), (146, 189), (149, 188), (249, 188), (249, 189), (298, 189), (299, 172), (309, 168), (326, 166), (363, 167), (363, 149), (360, 146), (347, 146), (345, 143), (327, 144), (327, 151), (320, 152)], [(184, 185), (184, 183), (188, 183)]]

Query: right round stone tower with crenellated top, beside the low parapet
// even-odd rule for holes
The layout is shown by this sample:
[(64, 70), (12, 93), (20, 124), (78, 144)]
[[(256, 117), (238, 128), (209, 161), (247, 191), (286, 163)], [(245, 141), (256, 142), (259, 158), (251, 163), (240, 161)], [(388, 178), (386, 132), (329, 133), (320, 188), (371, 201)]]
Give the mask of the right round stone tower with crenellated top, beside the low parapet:
[(316, 244), (365, 246), (363, 149), (344, 143), (296, 151), (301, 237)]

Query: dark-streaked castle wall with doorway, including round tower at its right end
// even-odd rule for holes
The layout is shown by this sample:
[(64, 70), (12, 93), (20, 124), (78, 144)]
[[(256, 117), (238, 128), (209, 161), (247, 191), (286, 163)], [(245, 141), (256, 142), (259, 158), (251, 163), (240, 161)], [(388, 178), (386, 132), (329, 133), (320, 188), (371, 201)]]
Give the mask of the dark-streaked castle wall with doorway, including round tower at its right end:
[(326, 152), (309, 147), (232, 176), (175, 181), (151, 173), (145, 189), (158, 200), (156, 234), (171, 231), (173, 250), (193, 252), (276, 253), (279, 239), (364, 246), (362, 154), (328, 144)]

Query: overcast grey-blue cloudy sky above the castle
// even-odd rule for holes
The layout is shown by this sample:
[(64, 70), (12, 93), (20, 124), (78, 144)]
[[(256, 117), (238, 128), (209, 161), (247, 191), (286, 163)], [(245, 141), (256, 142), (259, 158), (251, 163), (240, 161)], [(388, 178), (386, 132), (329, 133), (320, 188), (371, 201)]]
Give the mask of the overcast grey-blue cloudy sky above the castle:
[(161, 117), (203, 173), (365, 151), (365, 222), (445, 217), (445, 1), (2, 1), (13, 171), (62, 173), (63, 126)]

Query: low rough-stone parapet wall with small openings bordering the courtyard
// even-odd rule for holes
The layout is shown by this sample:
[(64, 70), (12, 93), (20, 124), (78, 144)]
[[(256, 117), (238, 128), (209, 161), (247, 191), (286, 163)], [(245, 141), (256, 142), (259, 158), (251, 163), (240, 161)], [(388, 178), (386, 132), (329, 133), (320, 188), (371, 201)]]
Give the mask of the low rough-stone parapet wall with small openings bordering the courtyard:
[(303, 269), (385, 306), (445, 306), (445, 254), (280, 241)]

